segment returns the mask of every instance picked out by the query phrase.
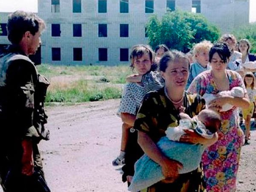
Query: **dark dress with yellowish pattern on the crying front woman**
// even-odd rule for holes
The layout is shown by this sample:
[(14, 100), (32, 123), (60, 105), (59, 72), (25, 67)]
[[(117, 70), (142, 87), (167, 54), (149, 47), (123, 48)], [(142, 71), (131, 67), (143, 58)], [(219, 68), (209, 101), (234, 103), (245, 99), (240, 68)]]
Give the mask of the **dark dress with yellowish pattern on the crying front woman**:
[[(193, 117), (205, 108), (205, 101), (197, 94), (185, 93), (183, 106), (185, 113)], [(166, 136), (167, 127), (176, 127), (179, 120), (179, 112), (162, 88), (144, 97), (134, 128), (147, 133), (153, 142), (157, 143), (161, 137)], [(192, 172), (180, 174), (173, 183), (160, 181), (140, 192), (206, 192), (204, 174), (199, 166)]]

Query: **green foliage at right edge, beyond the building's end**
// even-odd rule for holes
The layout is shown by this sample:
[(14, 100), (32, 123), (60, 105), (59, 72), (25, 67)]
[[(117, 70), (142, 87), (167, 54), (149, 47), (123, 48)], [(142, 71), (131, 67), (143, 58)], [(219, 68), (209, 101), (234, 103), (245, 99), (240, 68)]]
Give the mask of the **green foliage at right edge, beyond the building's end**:
[(256, 53), (256, 23), (250, 23), (246, 26), (241, 26), (233, 31), (237, 40), (248, 39), (251, 44), (250, 52)]

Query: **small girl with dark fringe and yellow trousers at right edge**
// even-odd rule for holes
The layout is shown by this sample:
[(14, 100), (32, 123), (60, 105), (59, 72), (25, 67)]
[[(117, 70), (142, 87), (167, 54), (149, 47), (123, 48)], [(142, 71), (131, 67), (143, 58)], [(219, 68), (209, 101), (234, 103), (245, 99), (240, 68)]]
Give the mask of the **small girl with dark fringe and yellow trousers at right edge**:
[(245, 142), (244, 145), (248, 145), (248, 140), (250, 137), (250, 119), (253, 116), (253, 111), (254, 111), (254, 102), (256, 99), (256, 84), (255, 84), (255, 77), (253, 73), (247, 72), (244, 76), (244, 85), (247, 90), (247, 94), (250, 99), (250, 107), (243, 109), (242, 114), (245, 120)]

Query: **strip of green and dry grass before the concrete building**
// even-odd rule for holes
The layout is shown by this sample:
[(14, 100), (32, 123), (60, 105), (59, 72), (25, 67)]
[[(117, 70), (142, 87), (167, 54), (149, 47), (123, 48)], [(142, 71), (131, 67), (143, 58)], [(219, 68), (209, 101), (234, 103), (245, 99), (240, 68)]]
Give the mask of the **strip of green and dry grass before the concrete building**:
[(127, 65), (53, 66), (41, 64), (38, 72), (51, 82), (46, 102), (78, 103), (121, 98), (122, 84), (131, 74)]

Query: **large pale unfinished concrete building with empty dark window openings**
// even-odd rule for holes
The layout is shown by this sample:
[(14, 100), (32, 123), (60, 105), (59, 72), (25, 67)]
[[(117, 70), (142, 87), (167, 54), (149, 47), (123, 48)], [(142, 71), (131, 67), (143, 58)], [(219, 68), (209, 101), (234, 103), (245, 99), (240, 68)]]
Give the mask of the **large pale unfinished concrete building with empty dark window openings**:
[[(202, 13), (222, 32), (249, 23), (249, 0), (38, 0), (38, 15), (47, 23), (41, 61), (128, 63), (129, 49), (147, 44), (148, 18), (153, 13), (163, 15), (167, 7)], [(0, 36), (2, 42), (6, 40)]]

